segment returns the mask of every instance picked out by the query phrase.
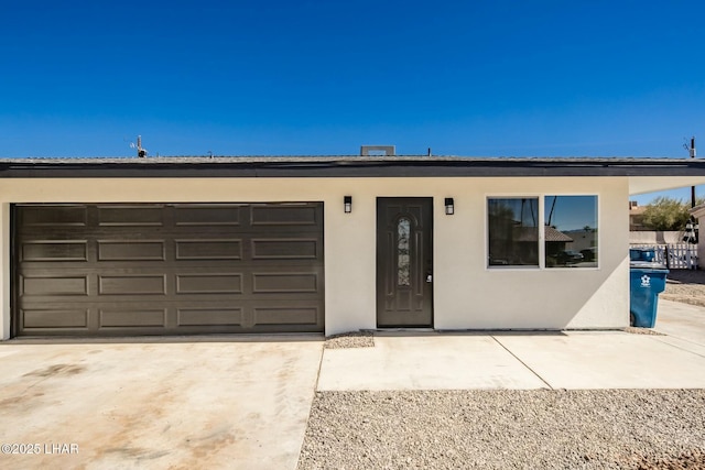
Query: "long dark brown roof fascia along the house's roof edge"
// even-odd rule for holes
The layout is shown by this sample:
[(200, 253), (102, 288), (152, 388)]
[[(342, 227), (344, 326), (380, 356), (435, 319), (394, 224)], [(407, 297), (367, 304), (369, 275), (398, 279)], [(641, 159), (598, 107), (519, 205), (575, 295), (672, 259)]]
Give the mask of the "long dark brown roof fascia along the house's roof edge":
[(705, 176), (705, 160), (653, 159), (167, 159), (4, 160), (0, 178), (33, 177)]

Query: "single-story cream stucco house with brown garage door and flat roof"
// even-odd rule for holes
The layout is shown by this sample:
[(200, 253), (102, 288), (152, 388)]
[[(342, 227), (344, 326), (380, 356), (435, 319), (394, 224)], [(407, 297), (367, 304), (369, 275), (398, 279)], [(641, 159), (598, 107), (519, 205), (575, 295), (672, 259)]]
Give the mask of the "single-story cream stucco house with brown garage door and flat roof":
[[(8, 159), (0, 178), (3, 339), (599, 329), (629, 323), (629, 195), (705, 162)], [(594, 260), (553, 264), (576, 233)]]

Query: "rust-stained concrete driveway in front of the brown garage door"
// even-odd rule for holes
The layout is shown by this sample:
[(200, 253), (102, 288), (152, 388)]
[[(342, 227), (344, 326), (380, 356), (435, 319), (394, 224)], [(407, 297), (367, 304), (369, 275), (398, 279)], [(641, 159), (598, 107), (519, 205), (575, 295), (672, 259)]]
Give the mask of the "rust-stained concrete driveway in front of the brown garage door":
[(322, 338), (128, 341), (0, 343), (0, 467), (296, 467)]

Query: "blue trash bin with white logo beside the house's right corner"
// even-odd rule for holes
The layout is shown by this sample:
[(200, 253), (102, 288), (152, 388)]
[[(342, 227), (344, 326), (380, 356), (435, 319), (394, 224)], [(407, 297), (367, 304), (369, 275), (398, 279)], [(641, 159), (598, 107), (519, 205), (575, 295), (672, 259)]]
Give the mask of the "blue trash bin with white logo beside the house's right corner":
[(657, 323), (659, 294), (665, 289), (669, 274), (662, 264), (631, 262), (629, 269), (629, 311), (631, 325), (653, 328)]

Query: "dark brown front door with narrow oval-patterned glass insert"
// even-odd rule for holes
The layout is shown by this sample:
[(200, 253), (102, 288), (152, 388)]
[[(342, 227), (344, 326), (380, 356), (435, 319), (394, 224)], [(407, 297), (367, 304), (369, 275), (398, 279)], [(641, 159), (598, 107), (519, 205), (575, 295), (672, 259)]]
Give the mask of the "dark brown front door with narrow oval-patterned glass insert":
[(377, 326), (433, 325), (433, 199), (377, 199)]

